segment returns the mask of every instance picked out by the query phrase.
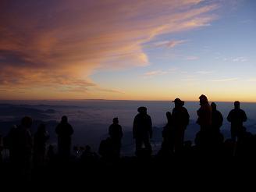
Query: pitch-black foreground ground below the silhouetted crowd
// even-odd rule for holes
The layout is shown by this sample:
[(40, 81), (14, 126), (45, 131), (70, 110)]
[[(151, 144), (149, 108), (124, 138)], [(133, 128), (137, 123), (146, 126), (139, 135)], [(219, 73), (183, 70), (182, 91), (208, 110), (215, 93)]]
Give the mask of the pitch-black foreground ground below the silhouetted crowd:
[[(111, 161), (102, 158), (55, 158), (26, 172), (3, 162), (0, 176), (2, 187), (36, 187), (34, 189), (38, 190), (50, 190), (52, 187), (147, 190), (165, 186), (169, 190), (177, 186), (180, 190), (192, 186), (210, 190), (218, 186), (218, 190), (222, 190), (223, 184), (230, 189), (254, 185), (256, 158), (254, 155), (234, 157), (196, 151), (168, 157), (134, 156)], [(204, 188), (204, 185), (208, 187)]]

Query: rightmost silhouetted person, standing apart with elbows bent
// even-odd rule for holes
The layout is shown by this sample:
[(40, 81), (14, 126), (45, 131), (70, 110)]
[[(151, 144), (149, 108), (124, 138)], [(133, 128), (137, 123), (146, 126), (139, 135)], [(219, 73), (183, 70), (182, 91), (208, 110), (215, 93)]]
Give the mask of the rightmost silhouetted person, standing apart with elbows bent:
[(247, 116), (244, 110), (240, 109), (240, 102), (234, 102), (234, 109), (229, 112), (227, 117), (228, 121), (231, 123), (231, 138), (236, 140), (239, 137), (239, 132), (243, 127), (243, 123), (247, 121)]

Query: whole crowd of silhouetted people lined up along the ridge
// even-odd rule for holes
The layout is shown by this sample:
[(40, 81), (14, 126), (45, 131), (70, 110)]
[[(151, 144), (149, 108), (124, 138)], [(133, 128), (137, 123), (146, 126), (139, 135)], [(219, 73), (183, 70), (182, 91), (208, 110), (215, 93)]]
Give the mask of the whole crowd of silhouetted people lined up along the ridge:
[[(254, 157), (256, 156), (256, 137), (247, 132), (244, 122), (247, 115), (240, 109), (240, 102), (234, 102), (234, 108), (229, 112), (227, 120), (231, 123), (231, 138), (224, 140), (221, 133), (223, 123), (222, 113), (217, 105), (202, 94), (200, 108), (197, 110), (197, 124), (200, 126), (193, 142), (184, 140), (184, 133), (190, 123), (190, 115), (185, 102), (176, 98), (172, 112), (166, 112), (167, 123), (162, 130), (162, 146), (154, 158), (172, 159), (176, 157), (193, 158), (199, 156), (209, 157)], [(147, 108), (137, 108), (138, 114), (133, 120), (133, 139), (136, 149), (135, 157), (140, 159), (152, 158), (151, 138), (153, 136), (151, 116)], [(48, 145), (49, 134), (44, 124), (40, 124), (34, 137), (30, 132), (33, 119), (28, 116), (21, 119), (19, 126), (12, 126), (8, 135), (0, 135), (0, 162), (2, 151), (9, 150), (9, 166), (23, 176), (31, 176), (34, 169), (42, 169), (52, 162), (69, 162), (72, 150), (73, 127), (68, 117), (62, 116), (61, 122), (56, 126), (58, 136), (58, 152), (55, 154), (53, 145)], [(119, 119), (115, 117), (108, 128), (109, 137), (101, 140), (98, 153), (90, 146), (74, 147), (75, 158), (79, 156), (80, 162), (89, 165), (97, 162), (115, 163), (121, 159), (123, 130)], [(56, 165), (56, 164), (55, 164)]]

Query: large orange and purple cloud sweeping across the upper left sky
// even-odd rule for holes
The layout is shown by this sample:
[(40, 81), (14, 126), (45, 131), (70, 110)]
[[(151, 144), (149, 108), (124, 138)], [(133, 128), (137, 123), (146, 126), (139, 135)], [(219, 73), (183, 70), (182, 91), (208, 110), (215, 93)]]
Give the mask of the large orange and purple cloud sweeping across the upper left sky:
[(90, 79), (95, 70), (147, 66), (144, 44), (208, 26), (218, 8), (201, 0), (3, 0), (0, 88), (97, 87)]

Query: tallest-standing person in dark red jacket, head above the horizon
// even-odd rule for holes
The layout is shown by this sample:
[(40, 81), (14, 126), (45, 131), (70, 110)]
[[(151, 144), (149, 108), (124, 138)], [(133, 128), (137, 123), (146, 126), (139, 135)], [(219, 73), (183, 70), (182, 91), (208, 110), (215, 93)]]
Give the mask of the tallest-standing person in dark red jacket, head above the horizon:
[(201, 107), (197, 110), (197, 124), (201, 126), (201, 130), (210, 130), (212, 126), (212, 108), (204, 94), (201, 94), (199, 99)]

